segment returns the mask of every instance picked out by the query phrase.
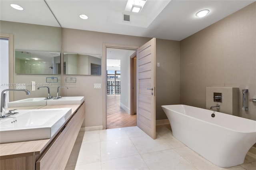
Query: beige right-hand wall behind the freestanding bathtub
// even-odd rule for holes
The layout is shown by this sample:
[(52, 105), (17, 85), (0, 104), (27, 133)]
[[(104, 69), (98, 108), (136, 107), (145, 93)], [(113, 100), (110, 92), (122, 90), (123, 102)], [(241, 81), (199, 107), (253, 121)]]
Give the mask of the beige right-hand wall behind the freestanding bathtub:
[(239, 87), (256, 120), (256, 2), (180, 42), (180, 103), (205, 108), (206, 87)]

